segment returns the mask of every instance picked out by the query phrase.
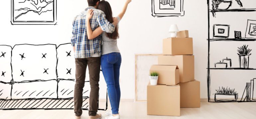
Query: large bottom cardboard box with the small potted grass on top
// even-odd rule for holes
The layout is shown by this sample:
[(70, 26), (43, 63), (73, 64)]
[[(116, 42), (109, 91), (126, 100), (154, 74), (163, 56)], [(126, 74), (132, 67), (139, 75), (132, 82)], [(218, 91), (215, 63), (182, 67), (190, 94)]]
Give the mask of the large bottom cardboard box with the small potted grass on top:
[(147, 86), (147, 114), (180, 116), (180, 85), (152, 86), (149, 83)]

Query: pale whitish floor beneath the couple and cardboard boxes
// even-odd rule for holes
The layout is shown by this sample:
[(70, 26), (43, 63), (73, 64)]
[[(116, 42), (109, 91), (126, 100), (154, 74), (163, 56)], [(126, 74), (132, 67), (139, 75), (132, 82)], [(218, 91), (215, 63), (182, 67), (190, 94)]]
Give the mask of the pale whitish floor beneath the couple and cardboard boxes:
[[(109, 104), (110, 105), (110, 104)], [(110, 110), (110, 106), (108, 107)], [(99, 111), (103, 116), (104, 111)], [(73, 110), (0, 110), (0, 119), (73, 119)], [(84, 110), (82, 119), (88, 118)], [(201, 108), (181, 108), (180, 117), (147, 115), (146, 103), (122, 101), (121, 119), (256, 119), (256, 102), (209, 103)]]

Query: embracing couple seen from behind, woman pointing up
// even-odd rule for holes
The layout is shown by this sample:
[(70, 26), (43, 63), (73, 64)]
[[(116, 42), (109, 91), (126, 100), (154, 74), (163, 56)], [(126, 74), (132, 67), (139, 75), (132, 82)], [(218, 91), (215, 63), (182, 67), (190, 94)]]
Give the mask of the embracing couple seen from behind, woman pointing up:
[(101, 114), (97, 114), (101, 67), (112, 108), (112, 111), (105, 113), (109, 115), (105, 119), (119, 119), (121, 55), (117, 47), (118, 23), (123, 18), (131, 0), (126, 0), (122, 11), (114, 18), (111, 6), (107, 1), (87, 0), (87, 2), (89, 7), (74, 18), (72, 27), (71, 45), (75, 52), (76, 67), (74, 86), (75, 118), (80, 119), (82, 115), (82, 92), (88, 65), (91, 88), (89, 118), (102, 118)]

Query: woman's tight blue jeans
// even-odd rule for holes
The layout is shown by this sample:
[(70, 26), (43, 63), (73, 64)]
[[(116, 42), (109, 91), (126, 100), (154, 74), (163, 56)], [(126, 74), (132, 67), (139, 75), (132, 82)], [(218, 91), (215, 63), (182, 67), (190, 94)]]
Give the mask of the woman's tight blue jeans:
[(107, 84), (108, 97), (112, 114), (118, 114), (120, 103), (119, 74), (122, 58), (120, 53), (109, 53), (101, 56), (101, 69)]

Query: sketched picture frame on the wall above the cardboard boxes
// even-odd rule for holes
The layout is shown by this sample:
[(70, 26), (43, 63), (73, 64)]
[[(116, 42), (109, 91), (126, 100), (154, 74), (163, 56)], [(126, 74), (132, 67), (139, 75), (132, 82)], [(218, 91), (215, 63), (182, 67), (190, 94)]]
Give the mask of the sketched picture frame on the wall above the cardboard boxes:
[(152, 0), (153, 17), (180, 17), (185, 15), (184, 0)]

